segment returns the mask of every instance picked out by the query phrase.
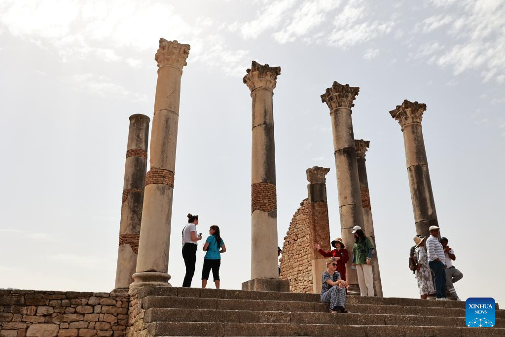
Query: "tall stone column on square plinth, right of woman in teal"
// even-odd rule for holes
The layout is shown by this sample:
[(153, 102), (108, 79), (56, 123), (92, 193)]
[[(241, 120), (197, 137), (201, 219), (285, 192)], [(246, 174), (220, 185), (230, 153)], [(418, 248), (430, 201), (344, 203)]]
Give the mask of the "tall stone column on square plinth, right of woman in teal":
[(251, 279), (243, 290), (289, 292), (277, 262), (273, 90), (280, 67), (252, 61), (243, 78), (252, 98)]

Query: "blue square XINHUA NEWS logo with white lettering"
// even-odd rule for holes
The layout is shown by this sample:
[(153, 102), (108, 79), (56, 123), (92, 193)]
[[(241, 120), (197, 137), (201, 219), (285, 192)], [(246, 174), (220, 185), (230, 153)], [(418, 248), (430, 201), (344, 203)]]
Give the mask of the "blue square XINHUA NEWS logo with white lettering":
[(493, 327), (495, 302), (490, 297), (471, 297), (465, 303), (466, 324), (469, 327)]

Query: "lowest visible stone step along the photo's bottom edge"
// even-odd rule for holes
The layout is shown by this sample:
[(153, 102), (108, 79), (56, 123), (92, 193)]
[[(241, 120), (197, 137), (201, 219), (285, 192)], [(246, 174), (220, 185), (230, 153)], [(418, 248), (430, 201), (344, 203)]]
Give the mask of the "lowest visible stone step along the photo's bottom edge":
[(147, 324), (147, 331), (151, 336), (502, 337), (505, 335), (504, 328), (286, 323), (156, 322)]

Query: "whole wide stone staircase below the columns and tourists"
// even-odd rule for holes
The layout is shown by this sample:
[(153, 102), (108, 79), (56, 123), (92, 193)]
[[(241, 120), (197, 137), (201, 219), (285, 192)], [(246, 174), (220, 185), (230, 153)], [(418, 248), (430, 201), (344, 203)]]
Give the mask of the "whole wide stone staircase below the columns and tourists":
[(505, 310), (495, 327), (470, 328), (465, 302), (348, 296), (351, 313), (332, 314), (315, 294), (142, 287), (132, 295), (129, 336), (505, 336)]

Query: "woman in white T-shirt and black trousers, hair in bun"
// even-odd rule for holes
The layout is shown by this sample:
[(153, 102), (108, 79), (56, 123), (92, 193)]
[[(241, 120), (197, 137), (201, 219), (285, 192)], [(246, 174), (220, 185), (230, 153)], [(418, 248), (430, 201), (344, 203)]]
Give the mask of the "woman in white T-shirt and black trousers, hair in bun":
[(194, 275), (194, 265), (196, 264), (196, 243), (201, 240), (200, 235), (196, 235), (196, 225), (198, 216), (188, 214), (188, 224), (182, 230), (182, 258), (186, 265), (186, 275), (182, 286), (190, 287)]

